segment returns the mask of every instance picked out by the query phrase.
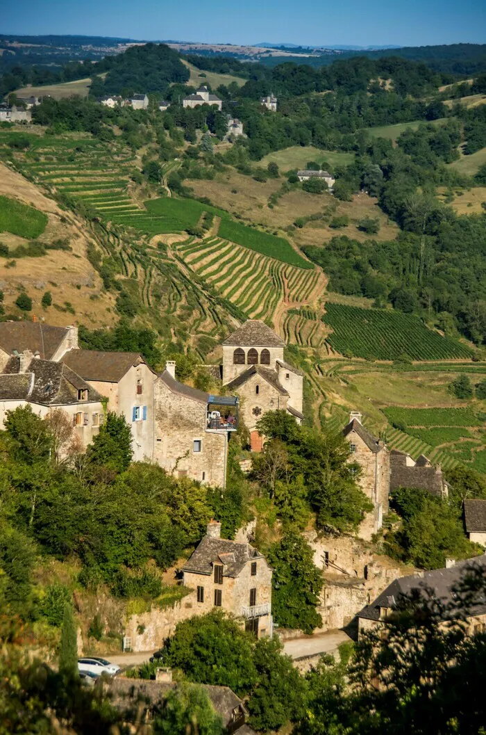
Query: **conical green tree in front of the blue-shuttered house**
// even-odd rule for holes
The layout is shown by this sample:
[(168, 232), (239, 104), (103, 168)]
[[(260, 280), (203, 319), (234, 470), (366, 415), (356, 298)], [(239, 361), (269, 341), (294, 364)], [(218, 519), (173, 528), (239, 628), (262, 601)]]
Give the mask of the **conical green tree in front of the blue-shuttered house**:
[(131, 430), (124, 416), (110, 411), (100, 431), (88, 447), (87, 459), (93, 467), (106, 467), (115, 473), (127, 470), (133, 451)]

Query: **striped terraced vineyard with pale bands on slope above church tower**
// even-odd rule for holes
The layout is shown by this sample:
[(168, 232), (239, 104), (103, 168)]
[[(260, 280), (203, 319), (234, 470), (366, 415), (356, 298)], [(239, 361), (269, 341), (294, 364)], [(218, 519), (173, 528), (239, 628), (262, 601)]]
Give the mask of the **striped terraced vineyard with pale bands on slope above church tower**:
[(318, 270), (294, 268), (220, 237), (177, 245), (177, 253), (197, 276), (253, 319), (271, 320), (282, 302), (312, 301), (321, 287)]

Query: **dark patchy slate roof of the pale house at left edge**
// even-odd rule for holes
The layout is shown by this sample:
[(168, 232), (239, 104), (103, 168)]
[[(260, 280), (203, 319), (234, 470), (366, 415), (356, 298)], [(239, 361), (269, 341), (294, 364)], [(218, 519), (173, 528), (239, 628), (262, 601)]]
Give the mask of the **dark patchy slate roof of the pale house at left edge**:
[(12, 357), (0, 375), (0, 396), (4, 401), (28, 400), (43, 406), (79, 404), (78, 390), (87, 390), (87, 400), (101, 401), (102, 396), (68, 365), (33, 358), (25, 373), (19, 373), (20, 360)]

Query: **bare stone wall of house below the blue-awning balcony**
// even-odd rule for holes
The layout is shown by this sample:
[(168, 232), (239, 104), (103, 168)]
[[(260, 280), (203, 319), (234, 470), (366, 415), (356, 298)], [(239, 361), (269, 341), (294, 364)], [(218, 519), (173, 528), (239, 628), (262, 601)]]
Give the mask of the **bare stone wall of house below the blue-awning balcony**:
[[(206, 404), (173, 393), (162, 379), (155, 381), (153, 392), (153, 461), (167, 472), (225, 487), (228, 437), (206, 430)], [(199, 452), (195, 441), (201, 442)]]

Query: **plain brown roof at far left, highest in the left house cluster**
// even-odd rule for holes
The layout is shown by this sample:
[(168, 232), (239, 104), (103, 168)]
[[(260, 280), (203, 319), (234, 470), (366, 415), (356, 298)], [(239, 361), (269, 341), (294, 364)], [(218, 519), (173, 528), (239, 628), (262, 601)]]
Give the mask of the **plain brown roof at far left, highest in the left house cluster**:
[(40, 322), (0, 322), (0, 348), (8, 355), (30, 350), (42, 359), (50, 360), (68, 334), (68, 327), (50, 326)]

